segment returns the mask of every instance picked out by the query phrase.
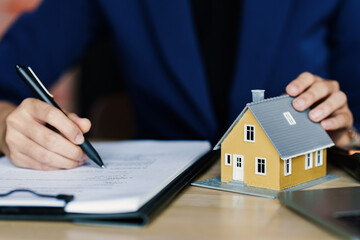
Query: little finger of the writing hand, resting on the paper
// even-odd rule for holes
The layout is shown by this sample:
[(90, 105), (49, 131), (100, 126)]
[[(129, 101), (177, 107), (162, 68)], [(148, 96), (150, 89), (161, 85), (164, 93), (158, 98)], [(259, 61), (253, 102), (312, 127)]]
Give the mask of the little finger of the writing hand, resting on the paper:
[(19, 132), (13, 134), (16, 134), (17, 136), (14, 137), (21, 142), (21, 144), (18, 145), (18, 150), (13, 152), (20, 152), (31, 159), (55, 168), (71, 169), (82, 163), (53, 153), (33, 142), (31, 139), (25, 137)]

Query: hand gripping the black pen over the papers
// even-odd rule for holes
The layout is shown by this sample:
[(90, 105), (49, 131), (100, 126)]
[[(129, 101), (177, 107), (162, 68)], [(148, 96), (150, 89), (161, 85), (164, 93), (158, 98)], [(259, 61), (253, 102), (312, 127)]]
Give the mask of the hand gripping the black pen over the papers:
[(66, 117), (43, 101), (27, 98), (7, 115), (4, 124), (1, 150), (18, 167), (71, 169), (87, 158), (77, 145), (84, 142), (83, 133), (91, 123), (74, 113)]

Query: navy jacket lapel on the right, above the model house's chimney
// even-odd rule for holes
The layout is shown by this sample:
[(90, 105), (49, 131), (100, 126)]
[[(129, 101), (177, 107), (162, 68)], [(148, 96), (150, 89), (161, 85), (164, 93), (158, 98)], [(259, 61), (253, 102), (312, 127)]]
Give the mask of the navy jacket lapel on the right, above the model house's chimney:
[(230, 121), (244, 108), (240, 102), (251, 102), (250, 90), (264, 88), (270, 79), (276, 63), (276, 50), (281, 47), (293, 3), (290, 0), (244, 0), (235, 77), (230, 93)]

